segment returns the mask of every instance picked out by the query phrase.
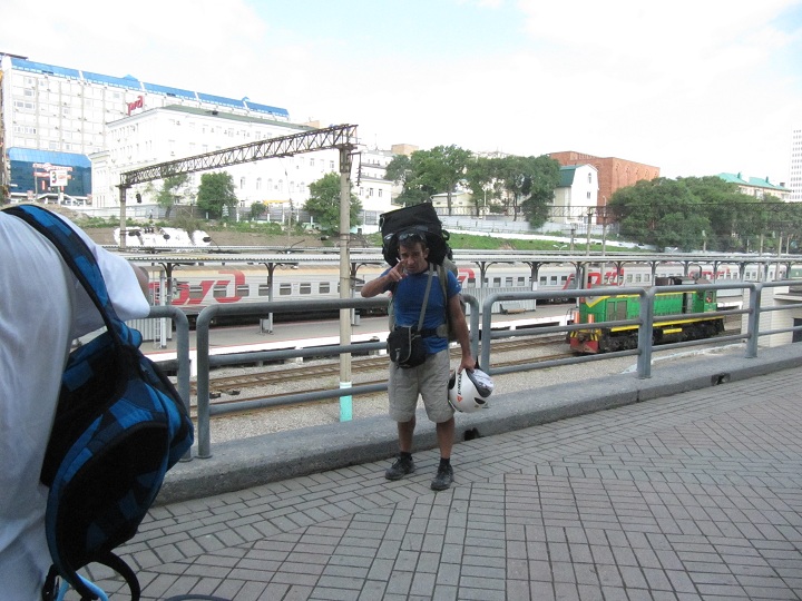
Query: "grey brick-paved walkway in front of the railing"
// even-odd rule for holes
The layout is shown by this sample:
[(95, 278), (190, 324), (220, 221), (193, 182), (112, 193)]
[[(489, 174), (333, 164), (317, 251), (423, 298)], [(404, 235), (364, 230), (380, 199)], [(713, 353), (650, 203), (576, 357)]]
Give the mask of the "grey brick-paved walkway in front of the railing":
[(423, 451), (399, 482), (379, 462), (159, 506), (121, 551), (143, 599), (802, 599), (800, 382), (462, 442), (440, 493)]

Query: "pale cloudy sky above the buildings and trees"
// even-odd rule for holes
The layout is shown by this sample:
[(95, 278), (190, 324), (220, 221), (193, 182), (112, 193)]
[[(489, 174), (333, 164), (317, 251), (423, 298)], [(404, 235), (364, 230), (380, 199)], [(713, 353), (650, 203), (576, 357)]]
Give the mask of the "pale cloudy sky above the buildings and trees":
[(389, 149), (788, 183), (802, 0), (3, 0), (0, 52), (247, 97)]

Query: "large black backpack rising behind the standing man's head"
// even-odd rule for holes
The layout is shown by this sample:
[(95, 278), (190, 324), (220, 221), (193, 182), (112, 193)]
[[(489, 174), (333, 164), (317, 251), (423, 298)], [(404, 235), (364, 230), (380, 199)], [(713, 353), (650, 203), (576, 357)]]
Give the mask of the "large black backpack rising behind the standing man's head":
[(448, 245), (449, 233), (442, 228), (440, 217), (431, 203), (421, 203), (411, 207), (382, 213), (379, 216), (382, 234), (382, 255), (391, 266), (398, 258), (398, 237), (404, 231), (418, 231), (426, 237), (429, 247), (429, 260), (442, 265), (444, 258), (451, 258)]

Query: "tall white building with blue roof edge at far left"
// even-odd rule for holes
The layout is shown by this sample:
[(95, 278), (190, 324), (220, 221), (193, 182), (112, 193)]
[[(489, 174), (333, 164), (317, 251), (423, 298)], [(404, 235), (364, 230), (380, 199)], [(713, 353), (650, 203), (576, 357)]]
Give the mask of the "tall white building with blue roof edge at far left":
[[(288, 121), (286, 109), (0, 55), (0, 185), (17, 198), (50, 191), (48, 169), (68, 168), (68, 194), (86, 198), (86, 157), (108, 150), (107, 124), (166, 106)], [(46, 180), (48, 183), (46, 184)]]

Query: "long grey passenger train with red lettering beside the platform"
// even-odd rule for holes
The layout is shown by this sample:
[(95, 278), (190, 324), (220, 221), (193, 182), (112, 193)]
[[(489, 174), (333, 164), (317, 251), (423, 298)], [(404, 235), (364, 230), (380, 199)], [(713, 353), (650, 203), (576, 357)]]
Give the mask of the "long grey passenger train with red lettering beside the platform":
[[(772, 265), (773, 269), (774, 266)], [(381, 266), (362, 266), (352, 282), (353, 294), (365, 282), (382, 273)], [(656, 277), (682, 276), (684, 266), (681, 264), (663, 264), (657, 267)], [(256, 265), (225, 265), (219, 267), (180, 267), (174, 272), (169, 283), (170, 303), (184, 309), (192, 318), (213, 304), (257, 303), (287, 299), (340, 298), (340, 276), (338, 266), (304, 266), (276, 268), (272, 287), (268, 283), (267, 269)], [(781, 277), (784, 269), (781, 270)], [(689, 276), (705, 277), (713, 280), (708, 265), (692, 265)], [(718, 266), (716, 282), (741, 279), (736, 264)], [(485, 280), (479, 283), (480, 270), (473, 266), (460, 266), (458, 278), (466, 292), (471, 288), (520, 288), (521, 290), (546, 290), (559, 293), (581, 287), (598, 286), (651, 286), (652, 268), (648, 265), (626, 265), (620, 270), (608, 264), (606, 268), (590, 268), (587, 286), (577, 286), (576, 270), (570, 264), (545, 265), (540, 267), (536, 282), (532, 282), (528, 265), (492, 265), (488, 268)], [(773, 278), (773, 272), (770, 273)], [(158, 274), (151, 273), (150, 289), (154, 304), (160, 303), (160, 285)], [(757, 266), (747, 267), (743, 274), (745, 280), (757, 280)], [(271, 294), (272, 292), (272, 294)], [(554, 302), (574, 302), (567, 296), (555, 295)]]

